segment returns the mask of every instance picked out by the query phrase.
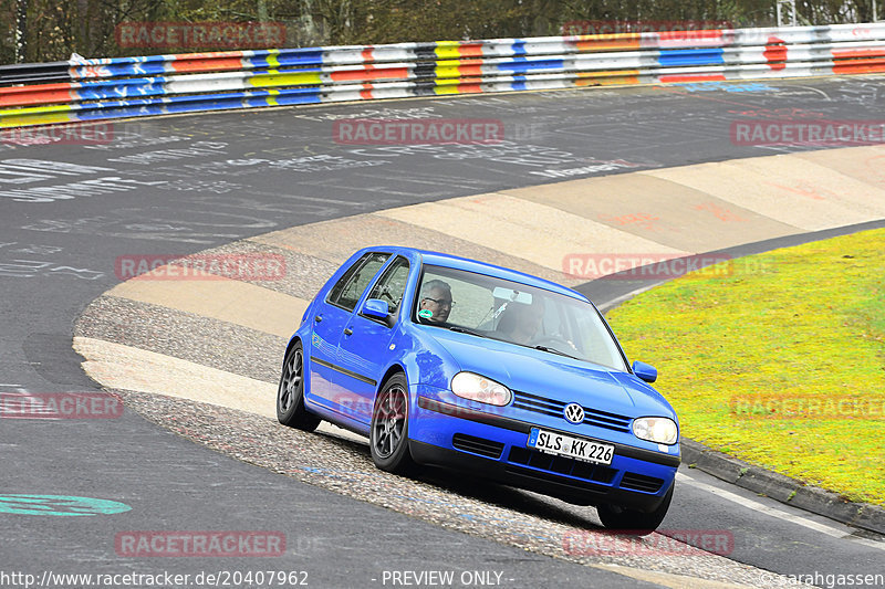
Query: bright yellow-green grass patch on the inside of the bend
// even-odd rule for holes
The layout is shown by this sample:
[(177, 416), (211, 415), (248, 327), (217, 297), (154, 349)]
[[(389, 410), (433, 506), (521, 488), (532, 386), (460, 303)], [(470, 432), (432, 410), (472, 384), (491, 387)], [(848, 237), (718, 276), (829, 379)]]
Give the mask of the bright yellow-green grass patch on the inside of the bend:
[(885, 505), (885, 230), (688, 274), (608, 320), (683, 435)]

